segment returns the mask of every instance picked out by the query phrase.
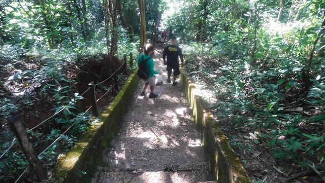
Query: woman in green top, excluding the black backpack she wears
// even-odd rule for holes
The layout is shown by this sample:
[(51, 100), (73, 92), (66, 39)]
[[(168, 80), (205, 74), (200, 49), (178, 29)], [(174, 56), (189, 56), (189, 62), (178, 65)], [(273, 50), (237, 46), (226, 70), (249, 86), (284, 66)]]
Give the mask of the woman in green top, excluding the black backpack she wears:
[(150, 94), (149, 94), (149, 98), (155, 98), (158, 96), (158, 94), (154, 93), (154, 86), (155, 86), (155, 77), (154, 75), (158, 75), (159, 72), (154, 70), (154, 62), (153, 62), (153, 59), (151, 57), (153, 53), (153, 46), (151, 44), (146, 44), (146, 46), (144, 47), (144, 54), (143, 55), (140, 55), (139, 56), (139, 59), (138, 59), (138, 66), (140, 68), (140, 64), (143, 62), (143, 61), (146, 61), (147, 64), (147, 74), (148, 74), (148, 79), (146, 80), (143, 80), (145, 83), (144, 83), (144, 86), (143, 86), (143, 90), (141, 92), (141, 96), (145, 96), (146, 95), (146, 89), (147, 87), (150, 85)]

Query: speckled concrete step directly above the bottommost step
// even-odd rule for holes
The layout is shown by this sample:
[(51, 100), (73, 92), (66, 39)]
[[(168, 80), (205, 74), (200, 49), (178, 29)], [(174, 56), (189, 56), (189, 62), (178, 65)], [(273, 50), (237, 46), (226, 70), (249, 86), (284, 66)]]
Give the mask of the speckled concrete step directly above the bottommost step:
[(186, 164), (205, 162), (204, 147), (175, 147), (157, 148), (138, 146), (134, 148), (117, 148), (115, 151), (107, 152), (103, 161), (113, 168), (124, 169), (146, 169), (152, 171), (169, 164)]

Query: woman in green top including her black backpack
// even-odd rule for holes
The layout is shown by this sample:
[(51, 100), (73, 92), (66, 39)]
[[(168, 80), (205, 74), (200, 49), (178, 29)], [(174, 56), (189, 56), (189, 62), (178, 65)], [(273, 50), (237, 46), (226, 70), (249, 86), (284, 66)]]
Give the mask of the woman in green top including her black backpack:
[(155, 98), (158, 96), (158, 94), (153, 93), (156, 82), (154, 75), (159, 74), (159, 72), (153, 69), (154, 62), (151, 57), (152, 54), (153, 46), (151, 44), (146, 44), (146, 46), (144, 47), (144, 54), (141, 54), (138, 59), (138, 75), (145, 82), (140, 95), (145, 96), (147, 87), (150, 85), (149, 98)]

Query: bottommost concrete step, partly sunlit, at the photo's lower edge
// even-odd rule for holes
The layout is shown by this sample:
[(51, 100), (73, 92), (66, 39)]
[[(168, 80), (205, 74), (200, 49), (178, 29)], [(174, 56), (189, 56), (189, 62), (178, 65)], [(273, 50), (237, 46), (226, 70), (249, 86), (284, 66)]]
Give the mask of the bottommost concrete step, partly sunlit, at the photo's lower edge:
[(202, 162), (166, 165), (161, 171), (152, 171), (150, 169), (114, 171), (111, 169), (109, 172), (100, 173), (96, 180), (92, 180), (92, 182), (197, 183), (200, 181), (209, 182), (211, 180), (212, 177), (210, 176), (209, 164), (207, 162)]

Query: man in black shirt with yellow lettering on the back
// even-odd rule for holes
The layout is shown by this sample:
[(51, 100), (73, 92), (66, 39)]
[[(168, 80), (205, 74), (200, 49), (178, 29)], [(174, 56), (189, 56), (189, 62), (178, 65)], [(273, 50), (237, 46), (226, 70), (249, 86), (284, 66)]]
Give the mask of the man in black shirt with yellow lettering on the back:
[(167, 45), (163, 52), (164, 64), (167, 65), (167, 83), (171, 83), (171, 75), (173, 70), (173, 86), (177, 85), (176, 78), (180, 74), (178, 57), (181, 58), (181, 62), (183, 65), (184, 58), (182, 54), (182, 49), (176, 46), (176, 38), (173, 37), (171, 39), (171, 45)]

